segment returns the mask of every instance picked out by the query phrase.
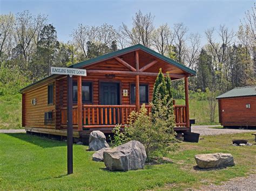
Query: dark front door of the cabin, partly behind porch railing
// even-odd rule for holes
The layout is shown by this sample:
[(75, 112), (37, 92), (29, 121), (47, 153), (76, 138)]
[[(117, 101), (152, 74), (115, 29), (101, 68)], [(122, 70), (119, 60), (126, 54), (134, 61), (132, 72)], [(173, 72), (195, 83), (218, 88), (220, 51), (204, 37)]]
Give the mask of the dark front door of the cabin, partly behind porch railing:
[[(119, 105), (120, 104), (120, 93), (119, 93), (119, 83), (108, 83), (108, 82), (102, 82), (99, 85), (99, 104), (100, 105)], [(115, 125), (114, 124), (114, 118), (113, 116), (117, 116), (117, 109), (115, 109), (116, 112), (113, 114), (113, 108), (111, 108), (111, 121), (109, 119), (110, 117), (110, 110), (107, 108), (103, 109), (103, 117), (100, 117), (103, 119), (103, 124), (105, 125)], [(107, 118), (106, 118), (107, 116)], [(102, 123), (102, 122), (101, 122)]]

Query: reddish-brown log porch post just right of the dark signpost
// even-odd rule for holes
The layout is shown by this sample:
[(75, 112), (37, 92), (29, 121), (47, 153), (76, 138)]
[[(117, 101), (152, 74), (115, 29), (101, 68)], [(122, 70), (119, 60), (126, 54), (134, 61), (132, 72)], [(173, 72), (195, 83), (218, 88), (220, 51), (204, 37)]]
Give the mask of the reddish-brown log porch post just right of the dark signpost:
[(78, 131), (83, 130), (82, 120), (82, 76), (77, 76), (77, 114), (78, 114)]

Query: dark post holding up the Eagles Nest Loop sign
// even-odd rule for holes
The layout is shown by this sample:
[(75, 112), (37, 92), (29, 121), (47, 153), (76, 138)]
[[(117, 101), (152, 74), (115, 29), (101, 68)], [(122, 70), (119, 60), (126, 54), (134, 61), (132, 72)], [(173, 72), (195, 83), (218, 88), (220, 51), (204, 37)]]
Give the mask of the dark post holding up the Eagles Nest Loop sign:
[(73, 173), (73, 80), (68, 75), (68, 121), (67, 121), (67, 147), (68, 147), (68, 174)]

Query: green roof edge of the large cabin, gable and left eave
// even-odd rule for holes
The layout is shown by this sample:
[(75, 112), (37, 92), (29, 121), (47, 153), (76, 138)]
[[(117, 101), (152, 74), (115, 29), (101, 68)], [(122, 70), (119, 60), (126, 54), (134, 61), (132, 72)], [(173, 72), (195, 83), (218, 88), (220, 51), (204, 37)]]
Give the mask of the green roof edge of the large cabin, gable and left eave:
[[(190, 69), (190, 68), (182, 65), (181, 63), (178, 63), (178, 62), (176, 62), (176, 61), (174, 61), (170, 58), (167, 58), (166, 56), (161, 55), (161, 54), (157, 53), (156, 51), (153, 51), (152, 49), (147, 48), (147, 47), (145, 47), (141, 44), (133, 45), (133, 46), (130, 46), (130, 47), (127, 47), (127, 48), (124, 48), (124, 49), (120, 49), (118, 51), (114, 51), (114, 52), (111, 52), (111, 53), (108, 53), (108, 54), (104, 54), (104, 55), (98, 56), (98, 57), (90, 59), (90, 60), (78, 62), (78, 63), (75, 63), (74, 65), (69, 66), (69, 68), (82, 68), (82, 67), (85, 67), (87, 65), (91, 65), (91, 64), (97, 63), (99, 61), (104, 61), (104, 60), (107, 60), (107, 59), (111, 59), (111, 58), (114, 58), (114, 57), (119, 56), (119, 55), (123, 55), (123, 54), (129, 53), (129, 52), (137, 51), (139, 49), (141, 49), (142, 51), (145, 51), (145, 52), (147, 52), (147, 53), (149, 53), (153, 56), (156, 56), (157, 58), (169, 63), (170, 65), (176, 66), (176, 67), (184, 70), (185, 72), (189, 73), (190, 76), (195, 76), (196, 75), (196, 71), (194, 71), (194, 70), (192, 70), (192, 69)], [(43, 83), (43, 82), (51, 80), (51, 79), (55, 79), (57, 76), (59, 76), (59, 75), (53, 74), (53, 75), (47, 76), (42, 80), (39, 80), (35, 83), (30, 84), (29, 86), (26, 86), (26, 87), (22, 88), (20, 90), (20, 92), (22, 93), (23, 91), (28, 90), (28, 89), (32, 88), (33, 86), (36, 86), (37, 84)]]

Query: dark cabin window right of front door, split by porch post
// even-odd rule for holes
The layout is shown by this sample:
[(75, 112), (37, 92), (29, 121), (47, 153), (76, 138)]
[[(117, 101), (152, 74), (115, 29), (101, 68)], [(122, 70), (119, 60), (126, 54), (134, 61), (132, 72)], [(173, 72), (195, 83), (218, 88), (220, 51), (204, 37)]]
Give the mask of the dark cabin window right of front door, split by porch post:
[[(135, 84), (131, 84), (131, 102), (136, 102), (136, 87)], [(149, 91), (147, 84), (139, 85), (139, 102), (149, 103)]]

